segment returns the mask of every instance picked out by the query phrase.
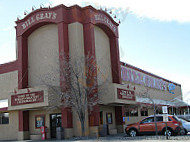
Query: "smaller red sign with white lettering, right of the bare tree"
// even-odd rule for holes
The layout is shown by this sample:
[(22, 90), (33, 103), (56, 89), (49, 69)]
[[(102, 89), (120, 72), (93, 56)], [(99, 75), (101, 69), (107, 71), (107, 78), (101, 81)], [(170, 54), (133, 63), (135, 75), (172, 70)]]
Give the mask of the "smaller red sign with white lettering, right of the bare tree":
[(135, 92), (117, 88), (117, 97), (118, 99), (135, 101)]

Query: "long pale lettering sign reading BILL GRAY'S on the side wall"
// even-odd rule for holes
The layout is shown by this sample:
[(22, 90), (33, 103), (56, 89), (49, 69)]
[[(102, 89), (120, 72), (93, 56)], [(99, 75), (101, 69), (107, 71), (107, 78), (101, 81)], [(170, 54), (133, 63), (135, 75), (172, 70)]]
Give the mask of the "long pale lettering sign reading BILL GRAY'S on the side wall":
[(136, 84), (141, 84), (144, 86), (148, 86), (151, 88), (156, 88), (159, 90), (167, 90), (167, 82), (158, 79), (156, 77), (152, 77), (150, 75), (144, 74), (142, 72), (130, 69), (128, 67), (121, 66), (121, 78), (122, 81), (133, 82)]

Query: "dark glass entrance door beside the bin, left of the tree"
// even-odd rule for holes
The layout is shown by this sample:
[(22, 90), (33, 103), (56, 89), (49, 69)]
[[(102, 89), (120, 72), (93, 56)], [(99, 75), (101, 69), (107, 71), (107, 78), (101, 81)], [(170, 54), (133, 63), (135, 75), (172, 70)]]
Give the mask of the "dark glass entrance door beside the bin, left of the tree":
[(50, 114), (51, 138), (56, 138), (57, 127), (61, 127), (61, 113)]

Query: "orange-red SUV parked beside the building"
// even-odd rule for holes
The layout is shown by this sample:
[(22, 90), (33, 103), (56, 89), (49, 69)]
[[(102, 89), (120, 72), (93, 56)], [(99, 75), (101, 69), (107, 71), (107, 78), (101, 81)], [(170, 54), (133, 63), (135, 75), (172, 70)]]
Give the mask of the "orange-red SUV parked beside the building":
[[(163, 122), (163, 115), (156, 115), (156, 124), (157, 124), (157, 131), (158, 134), (166, 135), (166, 125)], [(168, 115), (168, 122), (167, 122), (167, 133), (168, 136), (177, 135), (182, 129), (182, 124), (178, 120), (177, 117), (173, 115)], [(138, 134), (155, 134), (155, 121), (154, 116), (151, 115), (142, 121), (134, 124), (129, 124), (125, 128), (126, 133), (131, 136), (135, 137)]]

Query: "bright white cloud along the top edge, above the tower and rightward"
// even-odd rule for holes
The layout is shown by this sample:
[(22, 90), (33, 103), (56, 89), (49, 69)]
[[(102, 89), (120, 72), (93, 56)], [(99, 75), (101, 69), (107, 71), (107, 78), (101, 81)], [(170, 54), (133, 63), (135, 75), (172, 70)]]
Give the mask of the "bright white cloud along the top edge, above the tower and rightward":
[(117, 0), (117, 1), (95, 1), (95, 0), (49, 0), (52, 5), (65, 4), (67, 6), (78, 4), (80, 6), (93, 5), (129, 8), (130, 12), (142, 18), (156, 19), (160, 21), (177, 21), (180, 23), (190, 22), (189, 0)]

